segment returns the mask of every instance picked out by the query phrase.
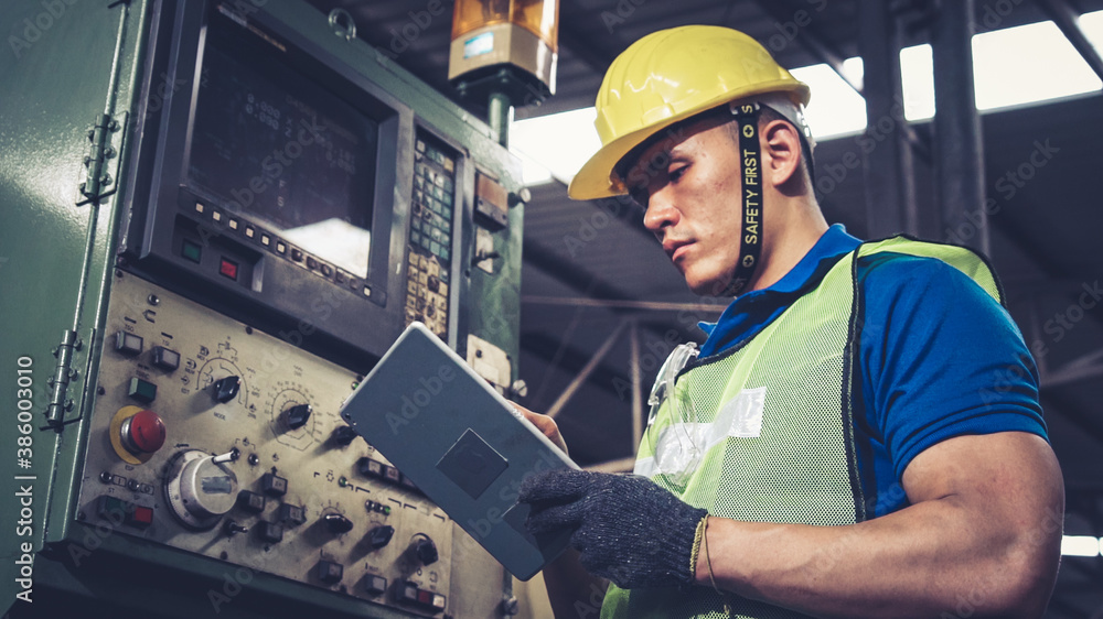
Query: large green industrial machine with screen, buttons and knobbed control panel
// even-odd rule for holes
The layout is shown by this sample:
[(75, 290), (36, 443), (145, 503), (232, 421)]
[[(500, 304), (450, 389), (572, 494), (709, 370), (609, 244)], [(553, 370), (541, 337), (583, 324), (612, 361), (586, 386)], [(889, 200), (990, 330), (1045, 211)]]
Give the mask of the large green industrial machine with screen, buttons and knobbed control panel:
[(512, 394), (516, 159), (341, 11), (0, 13), (10, 616), (511, 613), (338, 412), (413, 321)]

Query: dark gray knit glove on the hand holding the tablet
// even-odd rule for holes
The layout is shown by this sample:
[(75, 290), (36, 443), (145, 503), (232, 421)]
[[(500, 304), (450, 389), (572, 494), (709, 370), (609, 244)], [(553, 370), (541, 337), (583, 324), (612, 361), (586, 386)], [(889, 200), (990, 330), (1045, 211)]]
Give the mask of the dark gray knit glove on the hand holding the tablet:
[(694, 582), (697, 525), (708, 512), (682, 502), (646, 477), (558, 469), (521, 485), (540, 534), (574, 529), (582, 567), (627, 589)]

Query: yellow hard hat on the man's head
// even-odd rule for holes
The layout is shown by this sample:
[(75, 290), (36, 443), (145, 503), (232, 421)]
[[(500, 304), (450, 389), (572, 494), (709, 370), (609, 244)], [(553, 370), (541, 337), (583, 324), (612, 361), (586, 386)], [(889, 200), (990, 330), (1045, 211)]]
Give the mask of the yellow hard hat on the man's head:
[(636, 41), (606, 73), (598, 90), (601, 150), (567, 193), (595, 199), (628, 192), (614, 171), (621, 159), (662, 129), (754, 95), (782, 94), (797, 108), (811, 93), (746, 34), (715, 25), (661, 30)]

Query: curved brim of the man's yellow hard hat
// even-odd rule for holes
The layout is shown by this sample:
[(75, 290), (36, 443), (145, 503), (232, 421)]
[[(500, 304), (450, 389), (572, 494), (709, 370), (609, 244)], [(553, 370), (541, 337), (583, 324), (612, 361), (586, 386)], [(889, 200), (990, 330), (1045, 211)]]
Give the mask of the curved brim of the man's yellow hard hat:
[(811, 99), (811, 91), (807, 85), (795, 82), (792, 78), (779, 79), (771, 83), (754, 84), (751, 88), (729, 90), (721, 96), (706, 101), (699, 106), (686, 109), (679, 113), (671, 115), (658, 122), (647, 127), (625, 133), (620, 138), (601, 146), (570, 181), (567, 187), (567, 195), (571, 199), (598, 199), (613, 197), (628, 193), (624, 182), (617, 175), (617, 165), (632, 152), (633, 149), (644, 143), (649, 138), (660, 131), (692, 118), (698, 113), (706, 112), (718, 106), (739, 99), (753, 99), (756, 95), (765, 93), (789, 93), (794, 102), (807, 105)]

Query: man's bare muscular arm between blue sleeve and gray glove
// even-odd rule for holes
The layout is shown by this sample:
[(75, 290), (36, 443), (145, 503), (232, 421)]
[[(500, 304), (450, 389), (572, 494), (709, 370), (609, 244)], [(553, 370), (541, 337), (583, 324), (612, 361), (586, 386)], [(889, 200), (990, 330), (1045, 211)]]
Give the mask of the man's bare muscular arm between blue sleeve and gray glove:
[[(721, 589), (816, 617), (1040, 617), (1057, 578), (1064, 488), (1027, 433), (938, 443), (904, 470), (910, 506), (850, 526), (709, 518)], [(696, 580), (710, 586), (705, 553)]]

